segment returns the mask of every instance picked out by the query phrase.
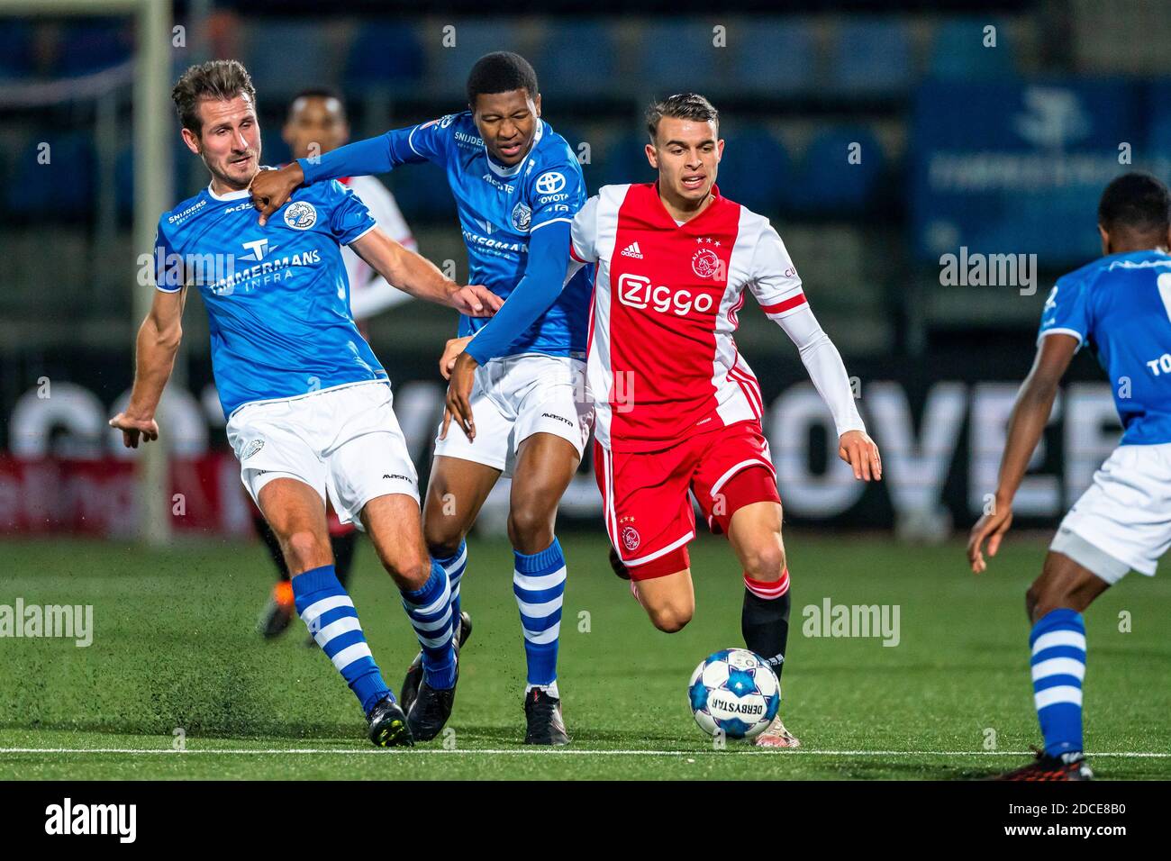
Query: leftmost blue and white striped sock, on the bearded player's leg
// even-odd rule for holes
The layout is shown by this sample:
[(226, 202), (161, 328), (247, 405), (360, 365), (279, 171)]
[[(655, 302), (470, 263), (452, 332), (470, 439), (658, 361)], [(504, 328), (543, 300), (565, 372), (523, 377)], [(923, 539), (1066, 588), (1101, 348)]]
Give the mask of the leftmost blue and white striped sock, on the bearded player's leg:
[(362, 710), (369, 715), (378, 701), (390, 695), (390, 689), (370, 655), (358, 623), (358, 611), (337, 581), (334, 566), (323, 565), (294, 576), (293, 595), (296, 611), (313, 638), (334, 662), (362, 703)]

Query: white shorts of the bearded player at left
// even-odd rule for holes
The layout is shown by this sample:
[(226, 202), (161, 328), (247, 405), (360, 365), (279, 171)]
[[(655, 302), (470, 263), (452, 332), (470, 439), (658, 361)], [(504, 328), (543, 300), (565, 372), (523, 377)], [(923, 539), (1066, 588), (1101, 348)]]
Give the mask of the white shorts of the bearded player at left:
[(385, 382), (362, 382), (283, 401), (245, 404), (227, 422), (240, 480), (259, 506), (275, 478), (304, 481), (328, 497), (343, 524), (375, 497), (419, 501), (419, 480)]

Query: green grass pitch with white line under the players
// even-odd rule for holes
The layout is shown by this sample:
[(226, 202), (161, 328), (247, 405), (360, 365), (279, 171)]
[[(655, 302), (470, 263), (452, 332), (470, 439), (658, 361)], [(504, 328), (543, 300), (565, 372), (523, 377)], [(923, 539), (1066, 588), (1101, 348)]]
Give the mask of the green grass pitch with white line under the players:
[[(506, 544), (473, 540), (464, 654), (446, 737), (378, 751), (338, 674), (299, 621), (254, 631), (272, 572), (258, 544), (0, 545), (0, 604), (93, 604), (94, 642), (0, 638), (0, 778), (964, 779), (1026, 761), (1039, 740), (1023, 592), (1045, 545), (1011, 538), (989, 572), (958, 542), (787, 537), (793, 620), (781, 715), (797, 751), (714, 750), (686, 702), (692, 669), (741, 645), (740, 573), (727, 545), (692, 546), (697, 613), (651, 628), (609, 570), (604, 539), (569, 534), (561, 691), (574, 744), (525, 747), (523, 649)], [(388, 683), (413, 635), (369, 545), (351, 594)], [(803, 635), (803, 608), (898, 604), (899, 643)], [(1124, 614), (1129, 614), (1125, 616)], [(1129, 630), (1123, 619), (1129, 617)], [(1101, 778), (1171, 778), (1171, 581), (1137, 574), (1087, 615), (1086, 737)], [(184, 752), (176, 752), (182, 730)]]

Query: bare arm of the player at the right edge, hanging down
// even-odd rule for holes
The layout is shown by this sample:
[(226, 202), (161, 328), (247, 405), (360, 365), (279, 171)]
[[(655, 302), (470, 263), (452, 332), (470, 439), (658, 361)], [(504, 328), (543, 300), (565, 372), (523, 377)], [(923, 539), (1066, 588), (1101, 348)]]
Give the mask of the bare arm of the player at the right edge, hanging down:
[(988, 542), (988, 555), (997, 555), (1000, 542), (1013, 522), (1013, 498), (1025, 478), (1029, 458), (1036, 450), (1045, 426), (1049, 423), (1057, 387), (1077, 347), (1078, 341), (1073, 335), (1055, 333), (1042, 337), (1033, 369), (1016, 392), (1016, 403), (1008, 417), (1008, 439), (1000, 460), (992, 511), (975, 522), (968, 535), (967, 561), (977, 574), (988, 567), (984, 559), (984, 542)]

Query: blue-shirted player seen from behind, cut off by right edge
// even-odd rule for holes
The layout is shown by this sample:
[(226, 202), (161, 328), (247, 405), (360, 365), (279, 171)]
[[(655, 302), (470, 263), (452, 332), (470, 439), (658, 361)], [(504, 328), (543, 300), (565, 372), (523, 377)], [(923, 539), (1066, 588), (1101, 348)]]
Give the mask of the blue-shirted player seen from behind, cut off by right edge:
[(972, 570), (986, 568), (1049, 419), (1057, 384), (1084, 344), (1110, 375), (1124, 429), (1049, 545), (1025, 597), (1033, 623), (1033, 699), (1045, 750), (1005, 780), (1089, 780), (1082, 747), (1082, 611), (1130, 569), (1151, 576), (1171, 547), (1171, 198), (1148, 173), (1111, 182), (1098, 204), (1103, 257), (1057, 279), (1033, 369), (1016, 396), (995, 506), (972, 527)]

